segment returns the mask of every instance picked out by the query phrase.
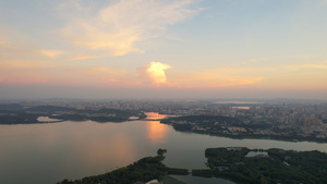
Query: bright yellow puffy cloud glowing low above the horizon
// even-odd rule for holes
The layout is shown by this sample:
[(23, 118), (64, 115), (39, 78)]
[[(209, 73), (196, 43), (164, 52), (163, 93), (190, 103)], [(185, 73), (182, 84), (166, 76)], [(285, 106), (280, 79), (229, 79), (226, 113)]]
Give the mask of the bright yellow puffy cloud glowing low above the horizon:
[(147, 74), (152, 78), (153, 83), (157, 86), (159, 85), (167, 85), (167, 78), (165, 70), (170, 69), (171, 66), (168, 64), (164, 64), (160, 62), (150, 62)]

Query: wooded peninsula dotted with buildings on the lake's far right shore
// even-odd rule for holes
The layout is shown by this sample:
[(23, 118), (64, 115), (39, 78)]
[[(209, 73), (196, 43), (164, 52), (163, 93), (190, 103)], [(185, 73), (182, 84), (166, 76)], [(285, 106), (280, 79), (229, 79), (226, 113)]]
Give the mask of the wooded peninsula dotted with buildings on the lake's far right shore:
[[(249, 121), (223, 115), (185, 115), (164, 119), (160, 123), (173, 126), (175, 131), (223, 136), (230, 138), (267, 138), (288, 142), (327, 143), (319, 128), (306, 132), (302, 127), (267, 121)], [(323, 134), (322, 134), (323, 132)]]

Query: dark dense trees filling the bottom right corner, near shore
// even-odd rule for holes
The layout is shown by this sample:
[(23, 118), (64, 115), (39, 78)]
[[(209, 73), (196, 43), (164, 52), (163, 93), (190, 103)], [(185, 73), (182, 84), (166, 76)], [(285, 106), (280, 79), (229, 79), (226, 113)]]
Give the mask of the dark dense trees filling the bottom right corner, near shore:
[(264, 150), (268, 157), (245, 157), (251, 151), (227, 148), (206, 149), (214, 176), (237, 183), (327, 183), (327, 154), (319, 151)]

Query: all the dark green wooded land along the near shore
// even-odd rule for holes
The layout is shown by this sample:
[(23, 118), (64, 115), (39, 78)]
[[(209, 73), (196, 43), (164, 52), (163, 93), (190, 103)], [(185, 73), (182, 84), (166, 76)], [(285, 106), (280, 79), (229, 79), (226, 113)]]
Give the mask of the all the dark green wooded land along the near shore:
[[(81, 180), (63, 180), (58, 184), (133, 184), (161, 181), (178, 183), (169, 175), (189, 175), (186, 169), (168, 168), (162, 163), (166, 149), (156, 157), (143, 158), (112, 172)], [(193, 176), (219, 177), (237, 184), (325, 184), (327, 183), (327, 154), (283, 149), (249, 149), (245, 147), (207, 148), (207, 169), (193, 169)]]

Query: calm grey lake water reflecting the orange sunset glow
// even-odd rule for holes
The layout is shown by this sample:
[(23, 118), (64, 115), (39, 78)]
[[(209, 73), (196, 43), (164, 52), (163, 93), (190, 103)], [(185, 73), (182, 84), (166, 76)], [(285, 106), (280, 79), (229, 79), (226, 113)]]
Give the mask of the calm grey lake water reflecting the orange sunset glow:
[(81, 179), (155, 156), (158, 148), (168, 149), (167, 165), (199, 169), (205, 168), (205, 148), (227, 146), (327, 152), (327, 144), (187, 134), (158, 121), (0, 125), (0, 183), (53, 184)]

